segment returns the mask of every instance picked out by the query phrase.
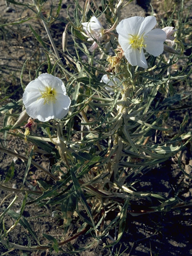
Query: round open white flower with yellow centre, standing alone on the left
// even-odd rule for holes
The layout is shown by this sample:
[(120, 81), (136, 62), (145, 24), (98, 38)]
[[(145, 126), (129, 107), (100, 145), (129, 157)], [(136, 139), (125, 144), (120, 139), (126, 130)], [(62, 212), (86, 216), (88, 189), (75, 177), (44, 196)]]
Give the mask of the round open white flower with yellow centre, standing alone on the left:
[(62, 80), (45, 73), (26, 86), (23, 103), (30, 117), (46, 122), (66, 116), (71, 100)]

